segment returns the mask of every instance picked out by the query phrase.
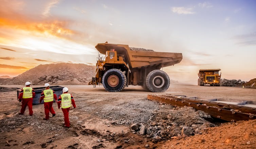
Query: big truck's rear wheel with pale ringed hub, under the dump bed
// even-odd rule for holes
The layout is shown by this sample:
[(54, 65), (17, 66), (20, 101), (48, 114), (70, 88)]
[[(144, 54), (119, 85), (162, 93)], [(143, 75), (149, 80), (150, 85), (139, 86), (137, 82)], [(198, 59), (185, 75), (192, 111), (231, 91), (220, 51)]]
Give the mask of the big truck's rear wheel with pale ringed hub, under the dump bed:
[(170, 86), (170, 78), (162, 70), (153, 70), (147, 75), (146, 86), (151, 92), (165, 92)]

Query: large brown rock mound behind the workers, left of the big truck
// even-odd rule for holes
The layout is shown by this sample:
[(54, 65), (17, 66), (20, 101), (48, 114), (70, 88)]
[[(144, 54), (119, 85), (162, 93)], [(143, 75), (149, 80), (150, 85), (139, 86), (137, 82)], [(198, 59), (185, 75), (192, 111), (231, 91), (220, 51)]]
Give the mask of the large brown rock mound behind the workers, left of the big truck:
[(44, 64), (32, 68), (12, 79), (0, 79), (0, 85), (23, 85), (31, 81), (32, 85), (87, 85), (91, 81), (95, 66), (86, 64), (58, 63)]

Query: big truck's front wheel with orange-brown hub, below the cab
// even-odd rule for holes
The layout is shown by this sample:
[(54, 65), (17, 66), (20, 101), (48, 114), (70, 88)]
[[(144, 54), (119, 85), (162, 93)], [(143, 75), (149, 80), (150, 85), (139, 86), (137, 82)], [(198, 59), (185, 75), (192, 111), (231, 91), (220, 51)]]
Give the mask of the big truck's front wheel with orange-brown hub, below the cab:
[(102, 85), (108, 92), (120, 92), (126, 86), (126, 76), (121, 70), (110, 69), (104, 73)]

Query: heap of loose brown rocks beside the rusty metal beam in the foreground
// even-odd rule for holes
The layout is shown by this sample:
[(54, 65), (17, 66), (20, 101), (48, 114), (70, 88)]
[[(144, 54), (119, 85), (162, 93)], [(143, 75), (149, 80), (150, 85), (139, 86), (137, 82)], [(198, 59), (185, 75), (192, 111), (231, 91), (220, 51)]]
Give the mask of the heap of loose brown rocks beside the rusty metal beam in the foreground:
[(191, 107), (173, 108), (173, 111), (169, 112), (169, 114), (164, 115), (164, 113), (162, 113), (157, 117), (159, 116), (161, 118), (150, 120), (149, 126), (145, 126), (142, 123), (132, 124), (130, 127), (131, 132), (146, 135), (152, 138), (152, 142), (158, 142), (161, 140), (181, 139), (187, 136), (201, 134), (207, 127), (215, 126), (204, 119), (211, 119), (209, 114), (203, 111), (196, 112), (195, 109)]

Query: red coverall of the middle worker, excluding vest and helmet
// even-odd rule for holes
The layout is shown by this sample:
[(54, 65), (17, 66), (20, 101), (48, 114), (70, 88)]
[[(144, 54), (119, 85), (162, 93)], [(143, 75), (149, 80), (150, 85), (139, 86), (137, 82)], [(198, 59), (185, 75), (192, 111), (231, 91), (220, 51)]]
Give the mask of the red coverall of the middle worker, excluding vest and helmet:
[[(40, 97), (40, 100), (39, 100), (39, 103), (41, 103), (41, 101), (43, 100), (43, 98), (44, 98), (44, 93), (43, 93), (43, 91), (42, 91), (41, 97)], [(57, 101), (57, 95), (54, 93), (54, 91), (53, 91), (53, 98), (55, 99), (55, 101)], [(52, 104), (53, 104), (53, 101), (50, 101), (50, 102), (47, 102), (47, 103), (45, 103), (45, 102), (43, 103), (43, 105), (44, 105), (45, 119), (49, 119), (49, 112), (51, 112), (52, 115), (55, 114), (55, 111), (54, 111), (54, 109), (53, 109), (53, 107), (52, 107)]]

